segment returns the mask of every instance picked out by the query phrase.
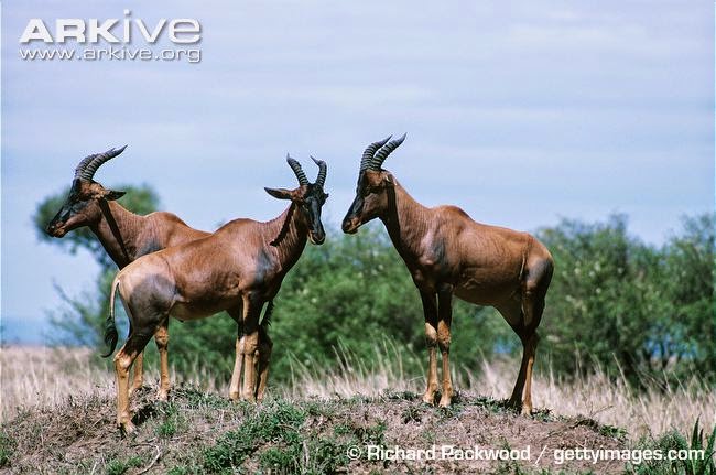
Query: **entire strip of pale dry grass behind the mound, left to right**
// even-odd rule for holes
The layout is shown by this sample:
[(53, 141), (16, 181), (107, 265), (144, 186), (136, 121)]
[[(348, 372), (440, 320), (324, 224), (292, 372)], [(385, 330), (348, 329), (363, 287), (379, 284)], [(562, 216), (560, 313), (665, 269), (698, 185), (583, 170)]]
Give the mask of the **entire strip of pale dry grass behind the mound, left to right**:
[[(422, 376), (409, 378), (400, 364), (403, 358), (395, 348), (378, 347), (372, 367), (364, 365), (350, 354), (343, 353), (341, 367), (332, 371), (312, 370), (294, 365), (290, 385), (274, 388), (291, 398), (380, 396), (386, 390), (413, 391), (424, 389)], [(402, 355), (404, 356), (404, 355)], [(111, 395), (113, 375), (89, 364), (90, 352), (83, 348), (52, 349), (43, 347), (0, 348), (0, 421), (12, 418), (19, 407), (55, 407), (68, 397)], [(455, 387), (465, 393), (496, 399), (507, 398), (517, 371), (514, 361), (485, 363), (479, 375), (467, 370), (455, 375)], [(192, 371), (202, 375), (200, 371)], [(205, 375), (205, 374), (204, 374)], [(412, 376), (412, 375), (411, 375)], [(156, 384), (156, 374), (149, 371), (145, 381)], [(207, 391), (226, 395), (228, 388), (207, 376), (191, 380), (172, 375), (173, 382), (189, 382)], [(716, 390), (697, 379), (665, 391), (655, 386), (634, 393), (625, 381), (610, 381), (604, 373), (564, 384), (555, 377), (538, 377), (533, 400), (538, 408), (547, 407), (553, 413), (586, 415), (603, 424), (625, 428), (631, 439), (658, 435), (670, 429), (688, 433), (697, 418), (702, 424), (716, 424)]]

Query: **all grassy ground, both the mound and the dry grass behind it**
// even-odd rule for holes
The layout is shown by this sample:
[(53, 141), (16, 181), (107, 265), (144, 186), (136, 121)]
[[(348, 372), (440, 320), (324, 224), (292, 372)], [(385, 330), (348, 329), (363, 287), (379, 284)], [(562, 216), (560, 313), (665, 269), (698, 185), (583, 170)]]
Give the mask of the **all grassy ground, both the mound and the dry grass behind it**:
[[(154, 400), (154, 387), (133, 397), (142, 421), (138, 439), (130, 441), (134, 449), (128, 450), (128, 441), (113, 428), (113, 375), (90, 365), (88, 350), (4, 347), (0, 467), (28, 469), (48, 461), (54, 465), (44, 472), (68, 474), (404, 472), (404, 463), (350, 461), (347, 449), (452, 443), (520, 450), (549, 440), (554, 446), (703, 451), (702, 458), (644, 461), (626, 468), (639, 475), (716, 474), (709, 456), (716, 440), (716, 395), (697, 379), (634, 393), (626, 382), (600, 373), (568, 384), (538, 376), (538, 410), (528, 419), (508, 410), (503, 400), (511, 391), (514, 361), (485, 363), (480, 375), (457, 370), (454, 404), (438, 409), (422, 403), (422, 377), (411, 379), (391, 364), (404, 356), (395, 352), (377, 348), (372, 366), (344, 352), (341, 368), (319, 374), (295, 364), (292, 382), (270, 387), (260, 406), (229, 402), (227, 388), (197, 376), (198, 370), (192, 380), (172, 375), (169, 402)], [(156, 385), (156, 379), (150, 371), (145, 382)], [(34, 453), (36, 458), (28, 455)], [(62, 458), (53, 460), (57, 454)], [(416, 472), (434, 468), (421, 465)], [(593, 468), (510, 462), (476, 469), (547, 474)], [(600, 465), (595, 472), (623, 469)]]

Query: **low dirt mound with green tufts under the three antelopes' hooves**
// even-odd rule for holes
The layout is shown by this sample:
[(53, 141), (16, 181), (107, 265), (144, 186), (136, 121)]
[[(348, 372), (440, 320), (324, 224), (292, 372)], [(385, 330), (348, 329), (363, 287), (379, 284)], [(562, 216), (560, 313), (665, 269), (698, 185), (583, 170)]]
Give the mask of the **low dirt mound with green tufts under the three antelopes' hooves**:
[[(0, 472), (458, 474), (625, 468), (618, 461), (557, 464), (554, 455), (563, 449), (625, 449), (623, 433), (616, 428), (547, 412), (521, 417), (500, 401), (480, 397), (463, 396), (449, 409), (427, 407), (408, 392), (276, 399), (258, 407), (192, 388), (177, 388), (164, 403), (156, 402), (149, 388), (132, 399), (138, 433), (131, 438), (115, 428), (110, 393), (21, 412), (1, 428), (0, 454), (7, 456)], [(469, 460), (488, 457), (489, 450), (492, 457), (506, 460)]]

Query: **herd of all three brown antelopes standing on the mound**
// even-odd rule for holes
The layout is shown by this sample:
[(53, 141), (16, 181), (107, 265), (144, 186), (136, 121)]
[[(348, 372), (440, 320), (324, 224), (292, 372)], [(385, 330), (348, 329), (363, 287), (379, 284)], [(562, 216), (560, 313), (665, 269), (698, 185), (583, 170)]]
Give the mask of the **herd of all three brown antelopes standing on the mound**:
[[(423, 401), (433, 404), (440, 386), (440, 406), (452, 402), (449, 347), (455, 295), (496, 307), (520, 337), (522, 363), (509, 403), (530, 414), (536, 327), (552, 278), (552, 256), (527, 233), (476, 223), (455, 206), (428, 208), (413, 199), (393, 174), (382, 169), (404, 139), (391, 141), (389, 137), (364, 151), (356, 197), (343, 230), (354, 234), (362, 224), (379, 218), (417, 288), (428, 349)], [(47, 233), (58, 238), (89, 227), (120, 269), (111, 284), (105, 332), (110, 347), (105, 356), (109, 356), (118, 342), (115, 299), (119, 294), (130, 330), (115, 356), (118, 427), (124, 433), (134, 430), (129, 397), (142, 386), (142, 352), (152, 336), (160, 353), (158, 398), (167, 399), (172, 316), (186, 321), (226, 311), (238, 326), (229, 398), (261, 401), (273, 346), (268, 334), (273, 299), (306, 241), (321, 245), (326, 237), (321, 222), (328, 198), (324, 192), (326, 163), (312, 158), (318, 166), (312, 183), (301, 164), (288, 156), (299, 186), (265, 188), (271, 196), (290, 202), (281, 215), (265, 223), (238, 218), (206, 233), (170, 213), (135, 215), (116, 202), (123, 192), (107, 190), (93, 180), (102, 163), (123, 150), (84, 159), (75, 170), (65, 204), (47, 226)], [(437, 349), (442, 355), (441, 385)]]

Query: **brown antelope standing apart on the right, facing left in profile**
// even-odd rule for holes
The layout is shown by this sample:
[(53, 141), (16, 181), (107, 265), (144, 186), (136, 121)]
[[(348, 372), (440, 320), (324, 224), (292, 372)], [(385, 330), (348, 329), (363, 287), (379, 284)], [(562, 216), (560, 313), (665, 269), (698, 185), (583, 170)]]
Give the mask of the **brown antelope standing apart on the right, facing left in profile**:
[(456, 295), (495, 306), (522, 341), (522, 364), (509, 403), (521, 404), (522, 413), (529, 414), (536, 327), (552, 279), (552, 256), (527, 233), (476, 223), (455, 206), (427, 208), (413, 199), (393, 174), (381, 168), (404, 139), (388, 142), (389, 137), (365, 150), (356, 198), (343, 230), (354, 234), (364, 223), (376, 217), (382, 220), (420, 291), (430, 355), (425, 402), (432, 404), (437, 391), (436, 346), (443, 357), (440, 406), (449, 406), (452, 400), (448, 355), (452, 299)]

